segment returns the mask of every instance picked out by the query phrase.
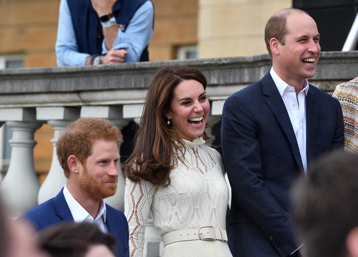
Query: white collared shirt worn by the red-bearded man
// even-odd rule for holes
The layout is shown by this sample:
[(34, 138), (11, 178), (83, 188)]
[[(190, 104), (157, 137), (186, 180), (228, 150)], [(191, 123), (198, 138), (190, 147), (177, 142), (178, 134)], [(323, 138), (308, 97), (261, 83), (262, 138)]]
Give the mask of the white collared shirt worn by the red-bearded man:
[(76, 199), (73, 198), (71, 193), (68, 191), (67, 186), (63, 188), (63, 195), (67, 202), (68, 208), (71, 211), (74, 222), (89, 222), (96, 224), (98, 228), (101, 229), (103, 233), (107, 233), (108, 229), (105, 224), (106, 222), (106, 204), (102, 200), (100, 202), (100, 208), (97, 214), (97, 217), (94, 219), (82, 206), (79, 204)]

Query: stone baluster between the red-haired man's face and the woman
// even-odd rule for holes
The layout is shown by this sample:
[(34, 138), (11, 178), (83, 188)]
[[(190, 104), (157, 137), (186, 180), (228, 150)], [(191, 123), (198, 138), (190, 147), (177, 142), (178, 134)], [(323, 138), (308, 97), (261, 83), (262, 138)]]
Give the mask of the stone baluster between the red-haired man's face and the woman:
[[(82, 106), (81, 117), (105, 118), (116, 125), (120, 130), (129, 123), (129, 120), (123, 118), (121, 106)], [(123, 140), (121, 140), (120, 145), (122, 142)], [(118, 147), (120, 147), (120, 145)], [(119, 166), (116, 194), (106, 198), (105, 202), (122, 212), (124, 212), (124, 187), (124, 175), (122, 174), (121, 166)]]

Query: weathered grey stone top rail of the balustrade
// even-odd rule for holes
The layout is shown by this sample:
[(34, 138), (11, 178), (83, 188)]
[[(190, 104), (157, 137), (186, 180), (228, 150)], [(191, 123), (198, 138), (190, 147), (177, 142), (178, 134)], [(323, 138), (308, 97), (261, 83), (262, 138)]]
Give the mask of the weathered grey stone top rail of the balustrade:
[[(209, 98), (222, 100), (263, 77), (270, 70), (271, 59), (268, 54), (260, 54), (101, 66), (5, 69), (0, 71), (0, 107), (142, 103), (155, 71), (173, 64), (200, 68), (208, 80)], [(316, 75), (310, 82), (332, 93), (335, 85), (357, 74), (358, 51), (322, 52)]]

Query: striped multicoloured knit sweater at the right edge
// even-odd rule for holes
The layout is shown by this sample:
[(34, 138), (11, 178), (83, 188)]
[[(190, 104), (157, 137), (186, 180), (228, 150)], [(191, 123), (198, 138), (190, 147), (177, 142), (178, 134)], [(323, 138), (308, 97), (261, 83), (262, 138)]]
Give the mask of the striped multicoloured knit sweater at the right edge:
[(344, 120), (344, 149), (358, 153), (358, 77), (339, 84), (333, 97), (342, 106)]

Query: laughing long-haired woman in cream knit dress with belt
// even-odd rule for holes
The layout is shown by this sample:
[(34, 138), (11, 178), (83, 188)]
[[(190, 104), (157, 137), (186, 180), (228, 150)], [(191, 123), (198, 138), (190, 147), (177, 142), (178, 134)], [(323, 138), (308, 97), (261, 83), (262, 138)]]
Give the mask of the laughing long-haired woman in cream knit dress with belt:
[(206, 85), (197, 69), (174, 66), (159, 69), (149, 86), (136, 146), (125, 164), (131, 257), (143, 255), (149, 213), (163, 236), (162, 256), (232, 256), (223, 164), (205, 146)]

